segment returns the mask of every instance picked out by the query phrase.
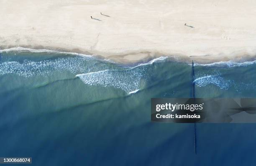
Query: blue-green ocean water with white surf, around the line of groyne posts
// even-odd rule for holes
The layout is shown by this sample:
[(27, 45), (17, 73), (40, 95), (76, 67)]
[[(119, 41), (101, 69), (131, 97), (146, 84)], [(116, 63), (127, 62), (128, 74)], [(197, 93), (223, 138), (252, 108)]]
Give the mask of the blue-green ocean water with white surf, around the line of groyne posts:
[[(151, 122), (151, 98), (191, 96), (172, 56), (121, 66), (90, 55), (0, 51), (0, 157), (38, 166), (254, 165), (256, 124)], [(255, 62), (195, 65), (198, 98), (256, 97)]]

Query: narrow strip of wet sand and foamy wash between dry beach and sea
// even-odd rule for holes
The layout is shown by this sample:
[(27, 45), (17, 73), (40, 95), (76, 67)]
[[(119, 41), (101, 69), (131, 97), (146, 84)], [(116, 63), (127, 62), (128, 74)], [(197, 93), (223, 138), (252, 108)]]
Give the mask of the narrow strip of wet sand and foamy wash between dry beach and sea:
[[(194, 61), (195, 65), (223, 65), (224, 63), (226, 66), (229, 66), (228, 63), (232, 63), (231, 66), (234, 64), (245, 64), (245, 63), (254, 63), (256, 62), (256, 55), (241, 55), (238, 56), (230, 56), (230, 57), (222, 57), (219, 59), (218, 57), (211, 56), (211, 55), (204, 55), (204, 56), (180, 56), (180, 55), (166, 55), (161, 53), (131, 53), (131, 54), (124, 54), (124, 55), (110, 55), (104, 57), (102, 55), (93, 54), (87, 51), (82, 51), (79, 49), (64, 49), (64, 48), (51, 48), (51, 47), (44, 47), (44, 46), (37, 46), (37, 47), (3, 47), (0, 46), (0, 54), (2, 52), (10, 52), (10, 51), (24, 51), (24, 52), (31, 52), (31, 53), (61, 53), (61, 54), (70, 54), (70, 55), (80, 55), (85, 56), (88, 58), (95, 58), (96, 60), (100, 60), (102, 62), (110, 62), (115, 63), (117, 65), (125, 66), (125, 67), (135, 67), (138, 65), (143, 65), (146, 63), (150, 63), (151, 61), (157, 60), (161, 57), (164, 59), (169, 58), (169, 61), (177, 62), (177, 63), (187, 63), (191, 64), (192, 60)], [(137, 59), (131, 60), (126, 59), (127, 56), (137, 56)], [(142, 56), (141, 56), (142, 55)], [(145, 56), (146, 55), (146, 56)]]

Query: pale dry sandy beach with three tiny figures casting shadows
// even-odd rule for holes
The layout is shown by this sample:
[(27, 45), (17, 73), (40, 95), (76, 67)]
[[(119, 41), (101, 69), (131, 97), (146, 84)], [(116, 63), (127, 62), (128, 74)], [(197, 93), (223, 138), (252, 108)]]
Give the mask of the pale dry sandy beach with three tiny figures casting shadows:
[(1, 49), (65, 49), (121, 63), (256, 55), (254, 0), (1, 0), (0, 6)]

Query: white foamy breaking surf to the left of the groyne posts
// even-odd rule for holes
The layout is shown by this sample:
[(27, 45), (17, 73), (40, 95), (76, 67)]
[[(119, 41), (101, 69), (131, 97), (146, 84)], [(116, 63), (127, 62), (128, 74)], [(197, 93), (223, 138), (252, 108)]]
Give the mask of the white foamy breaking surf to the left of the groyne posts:
[[(55, 50), (34, 50), (22, 47), (1, 50), (1, 53), (12, 54), (17, 52), (54, 54), (64, 53)], [(79, 77), (82, 82), (88, 85), (114, 87), (121, 89), (128, 94), (132, 94), (138, 92), (138, 90), (141, 88), (141, 81), (145, 81), (148, 76), (151, 75), (150, 72), (146, 72), (146, 66), (165, 60), (166, 58), (168, 57), (159, 57), (149, 61), (148, 63), (139, 64), (135, 67), (120, 67), (113, 64), (108, 65), (108, 63), (102, 63), (102, 61), (98, 61), (84, 56), (64, 56), (63, 58), (41, 61), (32, 61), (26, 59), (14, 61), (5, 58), (5, 60), (2, 60), (2, 62), (0, 63), (0, 75), (12, 73), (23, 77), (32, 77), (35, 75), (51, 75), (51, 73), (55, 71), (69, 71), (76, 74), (76, 77)]]

